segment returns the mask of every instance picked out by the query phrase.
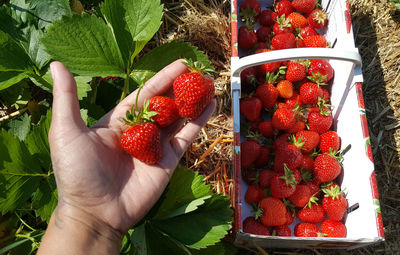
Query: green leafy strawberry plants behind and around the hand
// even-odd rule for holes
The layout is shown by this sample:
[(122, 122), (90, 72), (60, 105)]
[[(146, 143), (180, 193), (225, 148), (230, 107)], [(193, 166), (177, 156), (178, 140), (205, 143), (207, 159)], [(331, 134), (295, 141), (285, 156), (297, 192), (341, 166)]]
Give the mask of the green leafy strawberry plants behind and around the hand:
[[(88, 126), (172, 61), (210, 65), (182, 41), (142, 52), (161, 25), (160, 0), (105, 0), (93, 13), (74, 13), (68, 0), (0, 3), (0, 102), (16, 110), (16, 117), (0, 119), (0, 254), (34, 253), (57, 204), (47, 137), (52, 60), (75, 76)], [(120, 78), (102, 78), (109, 76)], [(231, 227), (230, 202), (202, 179), (177, 168), (154, 208), (125, 236), (121, 254), (235, 253), (220, 241)]]

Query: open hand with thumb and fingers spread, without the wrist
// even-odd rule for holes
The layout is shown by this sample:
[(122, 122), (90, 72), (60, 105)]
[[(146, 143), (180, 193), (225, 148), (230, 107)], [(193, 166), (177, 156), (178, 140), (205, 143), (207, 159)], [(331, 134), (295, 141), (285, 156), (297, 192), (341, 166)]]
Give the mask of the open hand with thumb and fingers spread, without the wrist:
[[(136, 91), (88, 128), (80, 116), (72, 75), (60, 62), (53, 62), (51, 71), (54, 100), (49, 142), (59, 206), (83, 210), (124, 233), (157, 201), (179, 159), (211, 116), (215, 102), (185, 126), (180, 120), (163, 129), (162, 159), (149, 166), (120, 145), (121, 133), (127, 127), (119, 119), (135, 103)], [(170, 93), (173, 80), (186, 71), (180, 61), (161, 70), (143, 87), (139, 107), (145, 99)]]

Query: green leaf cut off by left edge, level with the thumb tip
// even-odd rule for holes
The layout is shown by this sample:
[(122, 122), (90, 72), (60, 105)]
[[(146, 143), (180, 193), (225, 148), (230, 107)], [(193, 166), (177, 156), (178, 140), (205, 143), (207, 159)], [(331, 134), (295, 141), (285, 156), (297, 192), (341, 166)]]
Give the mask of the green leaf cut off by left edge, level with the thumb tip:
[(0, 71), (31, 71), (33, 65), (25, 50), (0, 30)]

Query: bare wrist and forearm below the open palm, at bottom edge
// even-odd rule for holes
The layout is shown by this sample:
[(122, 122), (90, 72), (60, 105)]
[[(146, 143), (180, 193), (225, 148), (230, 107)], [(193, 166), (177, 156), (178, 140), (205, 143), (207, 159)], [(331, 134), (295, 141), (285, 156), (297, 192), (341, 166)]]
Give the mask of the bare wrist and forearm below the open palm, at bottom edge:
[(58, 205), (38, 255), (119, 254), (123, 235), (91, 215)]

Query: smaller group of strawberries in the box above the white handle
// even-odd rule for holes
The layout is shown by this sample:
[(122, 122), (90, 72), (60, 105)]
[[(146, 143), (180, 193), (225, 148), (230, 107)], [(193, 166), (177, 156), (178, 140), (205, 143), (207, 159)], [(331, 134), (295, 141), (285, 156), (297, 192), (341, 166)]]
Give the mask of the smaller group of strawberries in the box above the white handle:
[[(326, 27), (328, 16), (316, 4), (316, 0), (278, 0), (274, 11), (261, 11), (257, 0), (245, 0), (239, 10), (245, 22), (239, 28), (239, 46), (256, 53), (266, 49), (328, 47), (326, 38), (317, 32)], [(260, 26), (255, 31), (257, 23)]]

